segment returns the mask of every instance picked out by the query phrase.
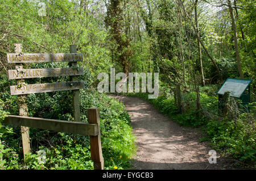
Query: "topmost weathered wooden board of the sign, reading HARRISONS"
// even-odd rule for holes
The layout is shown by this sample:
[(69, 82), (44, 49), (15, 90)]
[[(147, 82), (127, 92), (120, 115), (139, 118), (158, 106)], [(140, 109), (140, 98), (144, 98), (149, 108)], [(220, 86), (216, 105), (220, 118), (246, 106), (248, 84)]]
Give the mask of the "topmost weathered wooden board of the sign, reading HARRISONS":
[(8, 63), (82, 61), (81, 53), (7, 53)]

